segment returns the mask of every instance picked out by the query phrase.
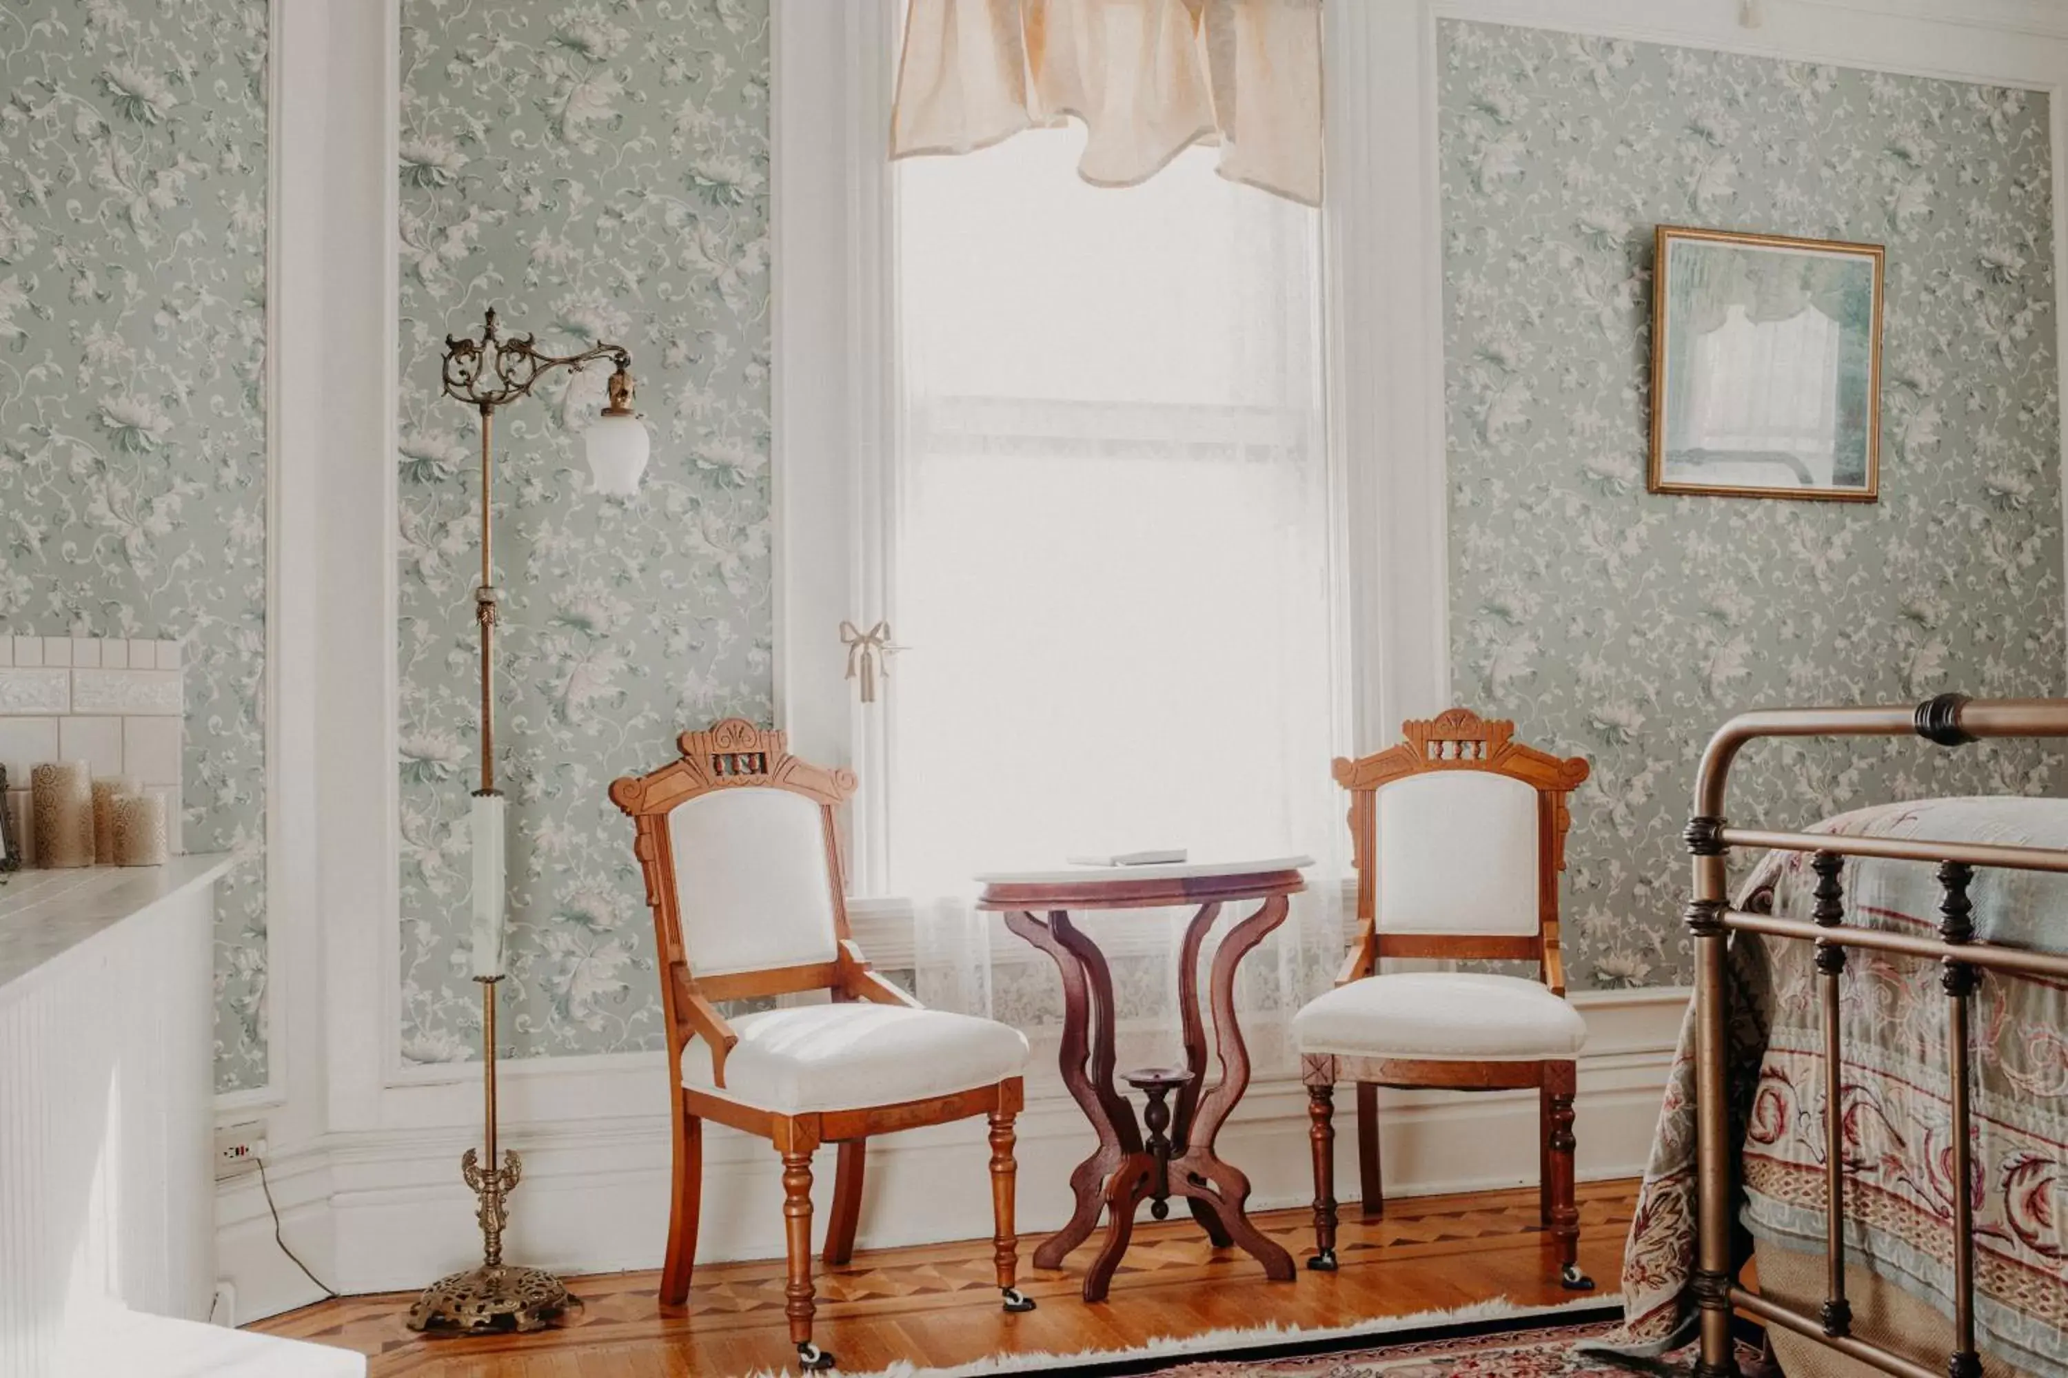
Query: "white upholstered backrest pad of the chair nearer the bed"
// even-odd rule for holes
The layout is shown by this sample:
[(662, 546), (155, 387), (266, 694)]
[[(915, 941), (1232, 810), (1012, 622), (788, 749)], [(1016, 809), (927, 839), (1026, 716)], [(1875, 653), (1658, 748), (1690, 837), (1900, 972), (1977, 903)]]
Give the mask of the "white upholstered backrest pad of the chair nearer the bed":
[(1377, 926), (1537, 932), (1537, 789), (1491, 771), (1408, 775), (1377, 791)]

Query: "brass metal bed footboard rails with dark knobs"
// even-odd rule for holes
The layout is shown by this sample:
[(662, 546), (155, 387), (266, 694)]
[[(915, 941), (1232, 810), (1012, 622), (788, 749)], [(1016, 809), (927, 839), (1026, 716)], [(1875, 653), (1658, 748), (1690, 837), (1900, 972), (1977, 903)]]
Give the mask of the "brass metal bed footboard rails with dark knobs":
[[(1925, 1368), (1853, 1335), (1853, 1312), (1845, 1297), (1845, 1155), (1838, 1114), (1838, 977), (1849, 948), (1872, 948), (1940, 963), (1946, 994), (1946, 1050), (1952, 1105), (1952, 1180), (1973, 1180), (1969, 1008), (1977, 971), (2023, 977), (2068, 977), (2068, 957), (2027, 952), (1975, 942), (1969, 886), (1975, 868), (2068, 872), (2068, 851), (2041, 847), (1996, 847), (1985, 843), (1936, 843), (1929, 839), (1836, 837), (1822, 833), (1764, 833), (1725, 822), (1725, 789), (1737, 752), (1760, 738), (1898, 738), (1919, 735), (1938, 746), (1963, 746), (1983, 738), (2068, 738), (2068, 700), (2058, 698), (1967, 698), (1940, 694), (1915, 707), (1865, 709), (1770, 709), (1743, 713), (1710, 738), (1696, 775), (1694, 816), (1685, 841), (1694, 857), (1694, 895), (1683, 917), (1694, 934), (1696, 1002), (1696, 1271), (1694, 1295), (1702, 1308), (1700, 1357), (1694, 1378), (1727, 1378), (1731, 1359), (1731, 1312), (1803, 1335), (1828, 1349), (1859, 1359), (1898, 1378), (1981, 1378), (1975, 1349), (1975, 1233), (1967, 1190), (1952, 1194), (1954, 1324), (1944, 1370)], [(1812, 921), (1783, 919), (1731, 909), (1725, 868), (1733, 847), (1766, 847), (1812, 853), (1816, 872)], [(1940, 934), (1919, 938), (1845, 921), (1845, 857), (1888, 857), (1936, 862), (1940, 882)], [(1826, 1295), (1818, 1316), (1737, 1287), (1731, 1279), (1731, 1163), (1727, 1103), (1727, 1002), (1725, 944), (1731, 932), (1762, 934), (1816, 944), (1818, 1004), (1824, 1025), (1824, 1169), (1826, 1169)]]

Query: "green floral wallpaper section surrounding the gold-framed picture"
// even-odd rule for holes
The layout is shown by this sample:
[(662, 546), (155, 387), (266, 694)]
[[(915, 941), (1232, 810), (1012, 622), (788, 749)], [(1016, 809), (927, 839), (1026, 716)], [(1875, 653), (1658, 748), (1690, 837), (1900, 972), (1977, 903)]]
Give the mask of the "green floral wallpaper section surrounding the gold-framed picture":
[[(1702, 744), (1783, 702), (2064, 690), (2047, 101), (1537, 29), (1439, 33), (1454, 696), (1584, 754), (1578, 988), (1690, 979)], [(1652, 229), (1888, 248), (1878, 504), (1650, 496)], [(1774, 826), (2035, 793), (2058, 750), (1747, 750)]]

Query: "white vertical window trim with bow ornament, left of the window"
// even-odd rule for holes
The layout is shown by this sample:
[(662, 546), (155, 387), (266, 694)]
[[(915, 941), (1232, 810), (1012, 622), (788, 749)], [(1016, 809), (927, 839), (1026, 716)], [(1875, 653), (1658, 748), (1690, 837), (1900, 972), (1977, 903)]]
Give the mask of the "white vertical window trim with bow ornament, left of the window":
[[(881, 758), (844, 680), (842, 622), (883, 609), (883, 490), (891, 444), (889, 52), (895, 0), (852, 0), (831, 19), (813, 0), (771, 6), (771, 333), (776, 723), (813, 760)], [(893, 622), (895, 626), (895, 622)], [(885, 781), (848, 810), (850, 884), (879, 888)]]

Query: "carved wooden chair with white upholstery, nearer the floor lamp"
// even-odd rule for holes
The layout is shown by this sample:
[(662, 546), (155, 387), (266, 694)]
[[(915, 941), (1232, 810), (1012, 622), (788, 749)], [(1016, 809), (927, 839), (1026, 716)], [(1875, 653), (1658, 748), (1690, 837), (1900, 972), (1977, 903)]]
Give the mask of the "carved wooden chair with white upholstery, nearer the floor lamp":
[[(871, 1134), (991, 1120), (993, 1260), (1013, 1287), (1013, 1118), (1028, 1041), (1017, 1029), (920, 1008), (879, 977), (848, 934), (833, 810), (852, 771), (798, 760), (784, 733), (744, 719), (678, 738), (680, 760), (610, 785), (637, 824), (662, 971), (674, 1097), (674, 1204), (660, 1299), (680, 1306), (697, 1254), (703, 1122), (767, 1138), (782, 1155), (790, 1277), (786, 1314), (804, 1368), (831, 1368), (811, 1341), (811, 1159), (840, 1145), (825, 1262), (854, 1256)], [(825, 990), (802, 1004), (728, 1019), (728, 1000)], [(693, 1039), (703, 1047), (685, 1058)]]

